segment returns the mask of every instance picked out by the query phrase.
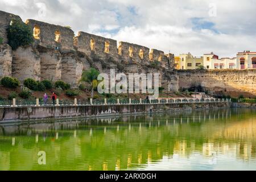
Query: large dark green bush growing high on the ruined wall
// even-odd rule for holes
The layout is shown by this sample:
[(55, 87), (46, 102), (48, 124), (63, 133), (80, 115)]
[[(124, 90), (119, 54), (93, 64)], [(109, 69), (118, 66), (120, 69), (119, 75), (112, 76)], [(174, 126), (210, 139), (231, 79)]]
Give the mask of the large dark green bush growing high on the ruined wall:
[(31, 28), (21, 20), (12, 20), (7, 28), (8, 44), (13, 50), (19, 46), (26, 46), (33, 42), (33, 34)]

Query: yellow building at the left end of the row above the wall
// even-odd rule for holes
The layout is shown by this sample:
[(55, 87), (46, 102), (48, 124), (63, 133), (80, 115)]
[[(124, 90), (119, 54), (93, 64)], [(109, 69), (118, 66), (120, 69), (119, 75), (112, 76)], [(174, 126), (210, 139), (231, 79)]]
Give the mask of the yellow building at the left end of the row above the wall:
[(191, 53), (180, 54), (175, 57), (175, 69), (196, 69), (203, 65), (203, 57), (192, 56)]

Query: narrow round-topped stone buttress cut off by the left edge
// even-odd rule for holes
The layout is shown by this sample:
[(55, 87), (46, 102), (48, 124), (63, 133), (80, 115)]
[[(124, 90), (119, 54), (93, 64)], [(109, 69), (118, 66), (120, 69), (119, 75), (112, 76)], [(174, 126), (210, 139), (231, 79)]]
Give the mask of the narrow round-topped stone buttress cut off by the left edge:
[(0, 77), (11, 76), (13, 51), (8, 44), (0, 44)]

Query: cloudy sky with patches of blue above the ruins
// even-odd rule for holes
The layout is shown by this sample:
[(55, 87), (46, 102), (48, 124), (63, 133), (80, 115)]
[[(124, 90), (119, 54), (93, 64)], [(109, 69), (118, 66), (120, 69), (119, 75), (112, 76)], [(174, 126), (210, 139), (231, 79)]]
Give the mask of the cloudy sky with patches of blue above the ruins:
[(175, 55), (256, 51), (254, 0), (0, 0), (23, 20), (71, 26)]

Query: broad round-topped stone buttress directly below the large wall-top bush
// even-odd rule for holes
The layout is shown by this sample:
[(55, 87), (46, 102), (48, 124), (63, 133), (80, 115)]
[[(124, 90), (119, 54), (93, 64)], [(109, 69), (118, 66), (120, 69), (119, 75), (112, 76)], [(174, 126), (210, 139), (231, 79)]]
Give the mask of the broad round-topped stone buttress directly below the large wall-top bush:
[(40, 54), (31, 46), (19, 47), (13, 52), (12, 76), (40, 80)]

